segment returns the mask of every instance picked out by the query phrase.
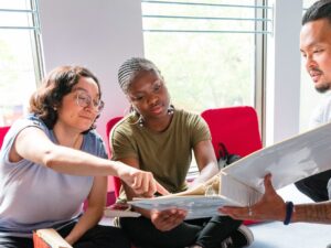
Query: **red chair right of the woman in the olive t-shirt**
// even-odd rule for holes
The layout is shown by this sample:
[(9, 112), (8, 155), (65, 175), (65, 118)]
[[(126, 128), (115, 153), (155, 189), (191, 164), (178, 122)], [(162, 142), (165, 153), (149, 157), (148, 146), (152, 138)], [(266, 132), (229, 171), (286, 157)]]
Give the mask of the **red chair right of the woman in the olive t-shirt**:
[[(209, 109), (201, 114), (207, 122), (215, 154), (218, 144), (224, 143), (228, 153), (242, 158), (261, 149), (258, 119), (254, 108), (248, 106)], [(256, 222), (245, 220), (245, 225)]]

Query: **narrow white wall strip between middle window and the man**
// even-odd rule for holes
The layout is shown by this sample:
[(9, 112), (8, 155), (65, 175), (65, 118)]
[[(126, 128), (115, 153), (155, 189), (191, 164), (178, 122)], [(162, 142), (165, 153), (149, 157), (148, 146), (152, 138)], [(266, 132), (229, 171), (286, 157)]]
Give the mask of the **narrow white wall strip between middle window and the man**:
[(299, 132), (302, 0), (274, 0), (274, 35), (268, 36), (266, 144)]

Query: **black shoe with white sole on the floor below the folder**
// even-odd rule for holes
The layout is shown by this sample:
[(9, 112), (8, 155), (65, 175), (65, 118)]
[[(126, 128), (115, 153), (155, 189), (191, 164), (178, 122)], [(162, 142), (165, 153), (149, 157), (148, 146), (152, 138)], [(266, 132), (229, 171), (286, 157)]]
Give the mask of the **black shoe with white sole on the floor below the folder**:
[(221, 244), (221, 248), (239, 248), (250, 246), (254, 241), (254, 236), (252, 230), (245, 225), (241, 225), (238, 229), (229, 235)]

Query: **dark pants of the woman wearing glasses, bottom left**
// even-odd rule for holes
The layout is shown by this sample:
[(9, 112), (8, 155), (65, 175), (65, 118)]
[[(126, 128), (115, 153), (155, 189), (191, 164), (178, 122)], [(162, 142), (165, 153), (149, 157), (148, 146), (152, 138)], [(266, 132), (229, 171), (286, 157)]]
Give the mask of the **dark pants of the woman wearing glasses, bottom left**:
[[(57, 233), (65, 237), (75, 224), (65, 226)], [(0, 237), (1, 248), (33, 248), (32, 238)], [(119, 228), (113, 226), (95, 226), (87, 230), (74, 244), (74, 248), (130, 248), (130, 241)]]

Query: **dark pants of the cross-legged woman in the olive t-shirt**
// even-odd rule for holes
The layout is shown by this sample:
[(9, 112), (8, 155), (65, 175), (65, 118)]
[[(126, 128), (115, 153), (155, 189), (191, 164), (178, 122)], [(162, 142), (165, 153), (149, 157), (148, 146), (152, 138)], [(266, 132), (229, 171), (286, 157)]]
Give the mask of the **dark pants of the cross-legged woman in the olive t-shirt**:
[(227, 216), (214, 216), (185, 220), (169, 231), (160, 231), (145, 217), (120, 218), (119, 223), (135, 246), (141, 248), (183, 248), (194, 244), (218, 248), (242, 224)]

